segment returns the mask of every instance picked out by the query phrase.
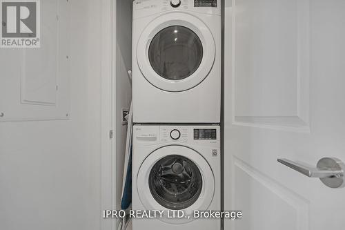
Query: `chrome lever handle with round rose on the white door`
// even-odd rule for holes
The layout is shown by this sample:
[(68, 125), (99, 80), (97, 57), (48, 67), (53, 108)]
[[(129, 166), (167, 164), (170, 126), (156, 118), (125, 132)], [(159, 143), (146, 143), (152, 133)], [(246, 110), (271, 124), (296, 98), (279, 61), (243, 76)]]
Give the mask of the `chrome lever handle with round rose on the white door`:
[(306, 166), (284, 158), (277, 159), (277, 161), (309, 178), (319, 178), (328, 187), (335, 189), (345, 186), (345, 164), (337, 158), (324, 157), (317, 162), (316, 167)]

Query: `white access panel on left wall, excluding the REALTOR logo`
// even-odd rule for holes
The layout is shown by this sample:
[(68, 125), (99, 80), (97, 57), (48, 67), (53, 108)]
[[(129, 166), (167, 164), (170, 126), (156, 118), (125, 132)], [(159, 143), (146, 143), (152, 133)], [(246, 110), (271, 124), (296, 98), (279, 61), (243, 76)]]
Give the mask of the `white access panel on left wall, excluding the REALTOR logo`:
[(70, 117), (70, 3), (40, 8), (41, 48), (0, 50), (0, 122)]

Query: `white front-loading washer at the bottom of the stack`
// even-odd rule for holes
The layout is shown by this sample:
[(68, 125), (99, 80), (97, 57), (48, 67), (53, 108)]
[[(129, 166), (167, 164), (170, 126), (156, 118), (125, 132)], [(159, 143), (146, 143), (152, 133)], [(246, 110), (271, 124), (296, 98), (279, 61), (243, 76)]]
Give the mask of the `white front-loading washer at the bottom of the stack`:
[(219, 126), (134, 126), (132, 154), (132, 210), (164, 211), (134, 218), (133, 230), (220, 229), (220, 219), (193, 213), (221, 209)]

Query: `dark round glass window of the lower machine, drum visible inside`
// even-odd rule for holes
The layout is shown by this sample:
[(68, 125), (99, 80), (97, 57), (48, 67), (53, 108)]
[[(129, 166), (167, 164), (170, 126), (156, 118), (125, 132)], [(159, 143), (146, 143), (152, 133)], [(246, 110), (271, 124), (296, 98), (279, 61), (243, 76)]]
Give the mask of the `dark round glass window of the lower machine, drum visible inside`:
[(168, 155), (152, 166), (148, 185), (161, 206), (186, 209), (199, 198), (202, 178), (194, 162), (181, 155)]

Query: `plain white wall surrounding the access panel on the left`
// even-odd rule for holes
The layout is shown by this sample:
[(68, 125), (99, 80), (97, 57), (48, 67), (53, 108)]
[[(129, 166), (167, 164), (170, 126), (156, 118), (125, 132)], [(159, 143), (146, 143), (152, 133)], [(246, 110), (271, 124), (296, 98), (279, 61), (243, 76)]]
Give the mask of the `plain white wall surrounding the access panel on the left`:
[[(0, 122), (3, 230), (95, 230), (101, 223), (101, 1), (70, 4), (70, 120)], [(10, 68), (0, 64), (0, 84)]]

